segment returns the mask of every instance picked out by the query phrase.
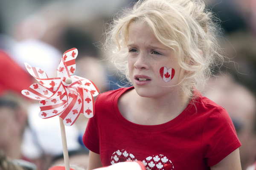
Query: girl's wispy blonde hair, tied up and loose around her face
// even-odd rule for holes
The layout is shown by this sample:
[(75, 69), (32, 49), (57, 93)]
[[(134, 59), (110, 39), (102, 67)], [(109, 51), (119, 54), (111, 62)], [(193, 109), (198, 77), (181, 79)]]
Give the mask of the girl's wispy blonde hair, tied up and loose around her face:
[[(104, 49), (109, 59), (128, 80), (128, 29), (133, 22), (144, 22), (155, 37), (172, 49), (178, 64), (186, 71), (180, 82), (185, 94), (200, 89), (217, 62), (223, 62), (216, 39), (218, 25), (203, 0), (139, 0), (107, 30)], [(216, 62), (217, 61), (217, 62)]]

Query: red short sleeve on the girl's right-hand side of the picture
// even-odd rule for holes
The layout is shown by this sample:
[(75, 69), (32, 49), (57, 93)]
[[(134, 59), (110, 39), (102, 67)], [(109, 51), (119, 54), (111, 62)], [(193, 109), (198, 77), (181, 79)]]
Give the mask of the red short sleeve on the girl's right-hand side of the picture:
[(209, 167), (241, 146), (227, 111), (216, 108), (207, 118), (202, 134), (202, 153)]

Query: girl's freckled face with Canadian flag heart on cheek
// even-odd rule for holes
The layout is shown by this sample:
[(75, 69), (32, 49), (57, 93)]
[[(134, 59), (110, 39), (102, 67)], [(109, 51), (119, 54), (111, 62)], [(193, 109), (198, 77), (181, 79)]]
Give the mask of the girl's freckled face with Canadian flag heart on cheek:
[(177, 90), (183, 70), (170, 48), (143, 22), (131, 23), (128, 31), (129, 76), (137, 94), (155, 98)]

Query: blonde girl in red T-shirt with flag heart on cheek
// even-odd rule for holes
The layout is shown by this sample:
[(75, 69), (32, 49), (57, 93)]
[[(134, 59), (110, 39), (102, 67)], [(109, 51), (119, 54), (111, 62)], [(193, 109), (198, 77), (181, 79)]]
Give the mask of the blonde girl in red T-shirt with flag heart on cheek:
[(99, 95), (83, 136), (92, 170), (142, 161), (148, 170), (241, 170), (224, 108), (198, 89), (217, 52), (201, 0), (139, 0), (114, 20), (106, 47), (132, 87)]

